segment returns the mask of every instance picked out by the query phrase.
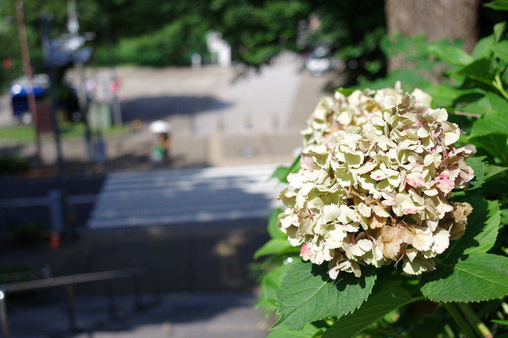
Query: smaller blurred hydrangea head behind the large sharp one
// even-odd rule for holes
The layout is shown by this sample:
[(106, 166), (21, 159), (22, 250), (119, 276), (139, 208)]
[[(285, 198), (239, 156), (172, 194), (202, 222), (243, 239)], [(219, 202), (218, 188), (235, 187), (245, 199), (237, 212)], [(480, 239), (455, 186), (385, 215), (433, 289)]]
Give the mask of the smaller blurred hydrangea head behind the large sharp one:
[[(347, 97), (336, 91), (334, 98), (322, 98), (307, 119), (307, 128), (302, 131), (304, 147), (321, 144), (327, 136), (339, 130), (358, 132), (369, 121), (373, 111), (385, 108), (387, 95), (397, 99), (404, 96), (400, 81), (395, 88), (355, 90)], [(417, 99), (417, 106), (430, 107), (432, 98), (422, 89), (416, 88), (411, 95)]]

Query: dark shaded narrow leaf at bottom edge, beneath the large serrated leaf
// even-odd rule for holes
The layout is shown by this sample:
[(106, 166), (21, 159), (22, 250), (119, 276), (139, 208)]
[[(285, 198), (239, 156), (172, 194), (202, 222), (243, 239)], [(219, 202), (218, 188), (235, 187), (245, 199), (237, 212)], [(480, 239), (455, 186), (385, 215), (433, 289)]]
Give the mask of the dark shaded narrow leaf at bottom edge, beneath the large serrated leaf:
[(390, 288), (371, 295), (362, 308), (352, 314), (340, 318), (323, 334), (323, 338), (354, 338), (367, 326), (400, 306), (418, 298), (403, 288)]

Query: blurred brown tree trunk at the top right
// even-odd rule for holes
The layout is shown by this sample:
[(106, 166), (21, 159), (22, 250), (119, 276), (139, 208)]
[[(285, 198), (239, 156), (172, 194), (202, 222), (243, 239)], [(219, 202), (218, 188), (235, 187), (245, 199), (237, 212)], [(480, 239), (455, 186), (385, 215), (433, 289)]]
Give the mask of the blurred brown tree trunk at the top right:
[[(470, 53), (478, 41), (480, 0), (385, 0), (388, 34), (404, 37), (426, 34), (428, 41), (443, 37), (464, 41)], [(403, 67), (403, 60), (390, 60), (388, 70)]]

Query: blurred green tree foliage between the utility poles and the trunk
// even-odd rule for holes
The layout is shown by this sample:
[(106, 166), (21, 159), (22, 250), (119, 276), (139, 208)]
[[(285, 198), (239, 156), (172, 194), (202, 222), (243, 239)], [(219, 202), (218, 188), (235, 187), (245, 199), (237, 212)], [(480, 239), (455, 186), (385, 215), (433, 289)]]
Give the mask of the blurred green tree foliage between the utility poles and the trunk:
[[(385, 32), (382, 2), (151, 0), (140, 5), (124, 0), (102, 6), (105, 13), (115, 13), (109, 20), (121, 62), (185, 65), (193, 52), (206, 61), (204, 36), (216, 30), (232, 45), (233, 59), (249, 66), (259, 67), (282, 50), (311, 52), (326, 45), (346, 62), (358, 59), (351, 78), (384, 75), (386, 63), (377, 46)], [(100, 62), (106, 55), (104, 49), (99, 52)]]

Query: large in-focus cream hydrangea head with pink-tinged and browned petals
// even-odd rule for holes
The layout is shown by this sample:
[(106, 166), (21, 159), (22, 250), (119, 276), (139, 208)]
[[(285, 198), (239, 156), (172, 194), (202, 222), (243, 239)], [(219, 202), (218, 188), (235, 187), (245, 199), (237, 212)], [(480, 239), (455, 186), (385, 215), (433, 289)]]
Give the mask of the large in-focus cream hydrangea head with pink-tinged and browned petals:
[(433, 270), (432, 258), (462, 236), (472, 211), (448, 201), (473, 178), (466, 160), (476, 149), (453, 145), (461, 130), (447, 111), (415, 106), (409, 94), (379, 104), (380, 93), (371, 100), (377, 108), (362, 115), (363, 129), (324, 132), (322, 143), (304, 149), (301, 170), (288, 176), (293, 190), (278, 197), (288, 207), (280, 229), (302, 245), (304, 260), (328, 261), (332, 279), (339, 271), (360, 276), (365, 264), (402, 261), (410, 274)]

